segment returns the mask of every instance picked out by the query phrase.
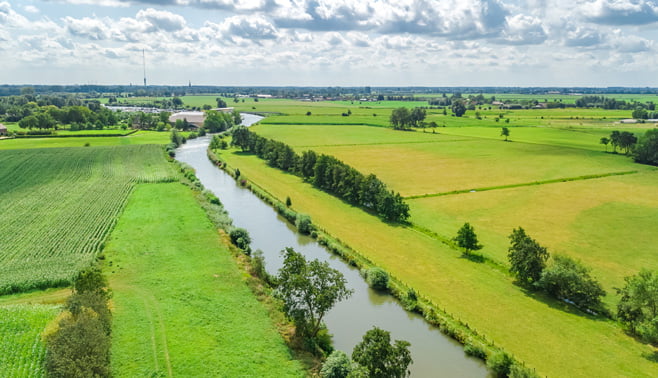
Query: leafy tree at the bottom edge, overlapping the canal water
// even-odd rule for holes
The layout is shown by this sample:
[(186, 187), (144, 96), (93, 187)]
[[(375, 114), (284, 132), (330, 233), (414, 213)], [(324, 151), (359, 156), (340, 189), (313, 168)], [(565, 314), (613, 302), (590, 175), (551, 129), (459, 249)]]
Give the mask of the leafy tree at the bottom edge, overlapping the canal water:
[(370, 378), (408, 377), (412, 362), (409, 346), (409, 342), (401, 340), (391, 344), (390, 332), (373, 327), (354, 347), (352, 360), (365, 368)]

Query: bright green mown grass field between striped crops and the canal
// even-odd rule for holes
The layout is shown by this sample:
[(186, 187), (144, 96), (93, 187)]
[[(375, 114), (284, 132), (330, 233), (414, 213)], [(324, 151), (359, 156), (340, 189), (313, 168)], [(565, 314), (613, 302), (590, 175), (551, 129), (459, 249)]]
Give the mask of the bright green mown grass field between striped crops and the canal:
[(105, 253), (114, 376), (306, 375), (189, 188), (139, 185)]

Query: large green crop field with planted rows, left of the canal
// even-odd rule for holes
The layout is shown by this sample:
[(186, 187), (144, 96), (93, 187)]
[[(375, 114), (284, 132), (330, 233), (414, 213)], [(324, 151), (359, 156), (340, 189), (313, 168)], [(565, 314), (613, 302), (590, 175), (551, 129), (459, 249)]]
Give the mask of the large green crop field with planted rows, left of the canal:
[(138, 182), (174, 179), (159, 146), (0, 151), (0, 293), (88, 266)]

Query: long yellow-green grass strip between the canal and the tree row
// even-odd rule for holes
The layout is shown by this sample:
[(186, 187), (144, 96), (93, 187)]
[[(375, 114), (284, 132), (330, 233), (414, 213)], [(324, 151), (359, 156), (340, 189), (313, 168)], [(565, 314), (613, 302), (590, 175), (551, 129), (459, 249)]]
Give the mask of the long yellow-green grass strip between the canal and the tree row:
[(311, 214), (332, 235), (540, 374), (649, 376), (655, 371), (650, 360), (654, 350), (625, 335), (614, 322), (525, 293), (507, 274), (460, 258), (460, 252), (413, 229), (384, 224), (255, 156), (221, 156), (278, 198), (290, 196), (295, 210)]

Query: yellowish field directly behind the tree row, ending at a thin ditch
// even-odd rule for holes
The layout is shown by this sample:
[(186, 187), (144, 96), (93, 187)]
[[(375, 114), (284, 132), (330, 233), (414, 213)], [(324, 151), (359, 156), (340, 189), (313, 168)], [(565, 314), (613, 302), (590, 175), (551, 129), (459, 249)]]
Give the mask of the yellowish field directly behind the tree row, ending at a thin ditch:
[[(359, 126), (261, 124), (253, 130), (290, 144), (298, 152), (307, 148), (298, 146), (313, 146), (314, 151), (333, 155), (362, 172), (373, 172), (402, 196), (647, 169), (600, 150), (466, 136)], [(571, 134), (579, 143), (598, 142), (598, 136), (562, 133)]]

